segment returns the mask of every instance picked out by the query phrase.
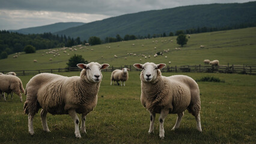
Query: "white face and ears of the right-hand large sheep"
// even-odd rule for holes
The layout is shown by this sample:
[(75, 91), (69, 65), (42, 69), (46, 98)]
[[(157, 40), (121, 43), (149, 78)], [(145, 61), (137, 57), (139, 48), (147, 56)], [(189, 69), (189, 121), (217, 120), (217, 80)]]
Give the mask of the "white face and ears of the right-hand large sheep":
[(141, 80), (144, 82), (153, 82), (157, 77), (157, 70), (165, 67), (166, 64), (154, 64), (153, 62), (146, 62), (142, 64), (134, 64), (133, 66), (139, 70), (142, 70)]

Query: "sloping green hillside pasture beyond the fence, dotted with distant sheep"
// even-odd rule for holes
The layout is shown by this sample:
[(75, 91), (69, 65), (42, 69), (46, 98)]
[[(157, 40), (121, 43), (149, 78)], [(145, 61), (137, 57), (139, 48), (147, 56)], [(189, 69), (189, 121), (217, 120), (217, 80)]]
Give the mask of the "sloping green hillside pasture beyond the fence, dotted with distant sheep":
[[(13, 54), (9, 55), (7, 59), (0, 60), (0, 72), (65, 68), (68, 59), (74, 54), (82, 55), (87, 61), (108, 63), (111, 67), (133, 65), (138, 62), (144, 64), (148, 61), (165, 64), (171, 61), (169, 66), (198, 65), (203, 64), (204, 59), (218, 59), (221, 65), (227, 65), (228, 63), (235, 65), (256, 65), (256, 27), (192, 34), (184, 47), (180, 47), (176, 43), (176, 38), (174, 36), (122, 41), (87, 47), (76, 46), (74, 48), (77, 51), (66, 50), (70, 54), (69, 56), (67, 53), (64, 53), (64, 50), (59, 50), (60, 48), (52, 49), (55, 51), (59, 50), (60, 56), (56, 55), (55, 57), (53, 57), (54, 54), (46, 54), (49, 50), (37, 50), (36, 53), (31, 54), (21, 53), (17, 58), (13, 58), (13, 55), (16, 55)], [(132, 44), (135, 44), (135, 46), (132, 46)], [(201, 45), (204, 48), (200, 48)], [(154, 53), (163, 52), (163, 50), (168, 49), (169, 52), (163, 53), (164, 56), (153, 57)], [(127, 55), (127, 53), (133, 53), (136, 56)], [(150, 55), (151, 58), (145, 59), (139, 56), (139, 54), (147, 57)], [(114, 55), (117, 55), (118, 58), (114, 58)], [(124, 59), (126, 57), (127, 59)], [(53, 60), (49, 61), (50, 58)], [(33, 62), (34, 59), (37, 59), (37, 62)], [(142, 60), (139, 61), (139, 59)]]

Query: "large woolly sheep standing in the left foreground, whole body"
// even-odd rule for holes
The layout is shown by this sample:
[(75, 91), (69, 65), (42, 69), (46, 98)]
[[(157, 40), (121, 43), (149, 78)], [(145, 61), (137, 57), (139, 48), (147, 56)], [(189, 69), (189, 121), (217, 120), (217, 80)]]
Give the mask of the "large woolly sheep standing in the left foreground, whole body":
[(79, 118), (76, 113), (82, 114), (81, 131), (85, 130), (85, 116), (97, 104), (97, 94), (102, 81), (100, 70), (109, 67), (109, 64), (100, 65), (97, 62), (78, 64), (83, 69), (80, 76), (66, 77), (58, 74), (41, 73), (32, 77), (26, 85), (26, 101), (24, 112), (28, 114), (28, 131), (34, 134), (33, 118), (42, 108), (40, 116), (44, 131), (50, 131), (46, 115), (69, 114), (75, 123), (75, 136), (81, 137)]

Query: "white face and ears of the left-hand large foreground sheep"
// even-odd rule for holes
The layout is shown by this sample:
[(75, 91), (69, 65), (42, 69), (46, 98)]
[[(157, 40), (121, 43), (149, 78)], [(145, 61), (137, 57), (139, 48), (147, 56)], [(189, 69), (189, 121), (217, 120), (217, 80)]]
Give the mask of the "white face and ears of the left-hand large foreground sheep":
[(77, 64), (81, 69), (86, 70), (87, 80), (93, 83), (99, 83), (102, 80), (102, 69), (109, 67), (109, 64), (100, 65), (97, 62), (91, 62), (90, 64)]

